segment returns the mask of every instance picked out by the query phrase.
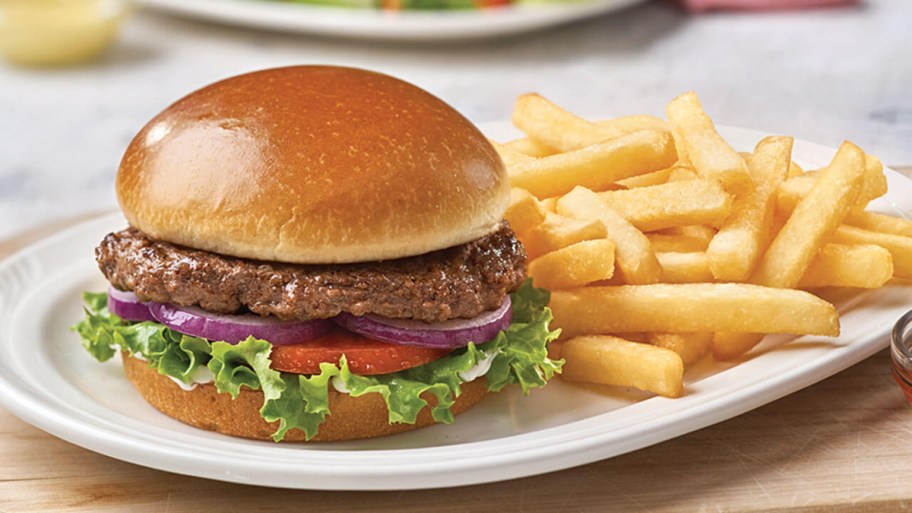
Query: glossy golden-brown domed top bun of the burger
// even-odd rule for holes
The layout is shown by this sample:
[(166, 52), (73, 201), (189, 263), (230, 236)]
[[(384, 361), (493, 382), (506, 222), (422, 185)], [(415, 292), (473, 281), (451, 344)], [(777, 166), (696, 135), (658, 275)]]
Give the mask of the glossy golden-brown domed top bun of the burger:
[(130, 143), (117, 197), (152, 238), (318, 264), (443, 249), (496, 229), (509, 180), (472, 123), (369, 71), (241, 75), (171, 105)]

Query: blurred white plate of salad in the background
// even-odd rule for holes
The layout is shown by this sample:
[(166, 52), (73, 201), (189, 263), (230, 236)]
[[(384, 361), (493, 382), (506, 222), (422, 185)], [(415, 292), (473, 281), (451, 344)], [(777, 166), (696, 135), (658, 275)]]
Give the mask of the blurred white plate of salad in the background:
[(644, 0), (582, 0), (473, 11), (348, 9), (270, 0), (142, 0), (191, 18), (269, 30), (393, 41), (466, 40), (529, 32)]

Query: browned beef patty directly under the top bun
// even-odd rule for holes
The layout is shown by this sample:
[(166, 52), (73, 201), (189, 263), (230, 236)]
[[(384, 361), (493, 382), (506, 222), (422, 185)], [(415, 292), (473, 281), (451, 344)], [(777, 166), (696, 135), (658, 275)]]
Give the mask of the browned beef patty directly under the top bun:
[(152, 240), (135, 228), (108, 234), (95, 258), (114, 287), (143, 301), (300, 320), (340, 312), (471, 318), (499, 307), (526, 276), (525, 251), (506, 223), (461, 246), (382, 262), (261, 262)]

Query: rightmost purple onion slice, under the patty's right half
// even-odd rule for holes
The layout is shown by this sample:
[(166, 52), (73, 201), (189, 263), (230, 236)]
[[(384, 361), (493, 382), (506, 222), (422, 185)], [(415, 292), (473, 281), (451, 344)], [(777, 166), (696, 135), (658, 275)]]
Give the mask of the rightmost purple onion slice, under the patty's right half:
[(510, 296), (504, 299), (497, 310), (485, 312), (472, 319), (451, 319), (438, 323), (426, 323), (407, 319), (388, 319), (375, 315), (356, 316), (341, 313), (333, 318), (343, 328), (375, 340), (396, 344), (457, 348), (469, 342), (482, 344), (492, 340), (507, 329), (513, 321)]

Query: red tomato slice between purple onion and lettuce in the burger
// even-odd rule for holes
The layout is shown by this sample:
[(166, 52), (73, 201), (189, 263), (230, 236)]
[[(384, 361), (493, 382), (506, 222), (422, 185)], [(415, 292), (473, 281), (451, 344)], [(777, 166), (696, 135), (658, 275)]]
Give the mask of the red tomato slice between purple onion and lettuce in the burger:
[(314, 340), (272, 348), (272, 368), (294, 374), (319, 374), (320, 364), (337, 364), (342, 355), (354, 374), (388, 374), (438, 360), (450, 349), (380, 342), (336, 328)]

